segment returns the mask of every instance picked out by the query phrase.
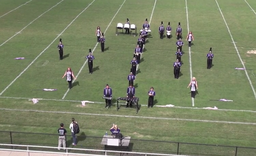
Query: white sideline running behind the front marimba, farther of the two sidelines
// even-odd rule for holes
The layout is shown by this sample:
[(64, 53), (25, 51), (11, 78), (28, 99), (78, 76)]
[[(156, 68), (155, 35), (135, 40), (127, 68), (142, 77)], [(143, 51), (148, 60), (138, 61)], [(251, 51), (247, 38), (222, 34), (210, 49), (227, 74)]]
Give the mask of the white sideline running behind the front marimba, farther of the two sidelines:
[[(0, 98), (3, 98), (3, 99), (24, 99), (24, 100), (33, 99), (33, 98), (26, 98), (26, 97), (7, 97), (7, 96), (0, 96)], [(42, 99), (42, 98), (38, 98), (38, 99)], [(81, 101), (78, 101), (78, 100), (59, 100), (59, 99), (42, 99), (42, 100), (81, 103)], [(94, 102), (94, 103), (95, 104), (105, 104), (104, 102)], [(114, 104), (116, 104), (116, 103), (114, 103)], [(126, 103), (120, 103), (120, 104), (126, 104)], [(141, 105), (141, 106), (148, 106), (148, 105)], [(161, 105), (154, 105), (154, 107), (163, 107), (163, 106), (161, 106)], [(197, 108), (197, 107), (179, 107), (179, 106), (165, 107), (165, 108), (204, 109), (204, 108)], [(208, 110), (208, 109), (204, 109), (204, 110)], [(232, 112), (251, 112), (251, 113), (256, 113), (255, 110), (237, 110), (237, 109), (217, 109), (217, 110), (232, 111)], [(215, 111), (215, 110), (210, 110), (210, 111)]]

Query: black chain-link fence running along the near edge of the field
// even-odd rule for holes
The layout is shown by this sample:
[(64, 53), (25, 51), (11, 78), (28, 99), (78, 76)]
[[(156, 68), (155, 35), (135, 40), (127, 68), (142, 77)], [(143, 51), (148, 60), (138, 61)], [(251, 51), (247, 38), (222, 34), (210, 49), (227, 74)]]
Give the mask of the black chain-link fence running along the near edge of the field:
[[(59, 135), (41, 134), (41, 133), (24, 133), (24, 132), (7, 132), (0, 131), (1, 144), (16, 144), (16, 145), (34, 145), (34, 146), (51, 146), (57, 147), (59, 143)], [(126, 151), (140, 153), (155, 153), (155, 154), (177, 154), (190, 156), (255, 156), (256, 148), (235, 147), (235, 146), (219, 146), (193, 143), (178, 143), (167, 141), (150, 141), (150, 140), (135, 140), (122, 139), (121, 144), (128, 148), (107, 146), (107, 139), (103, 137), (88, 137), (84, 133), (77, 134), (77, 145), (72, 145), (72, 136), (66, 136), (66, 147), (68, 148), (83, 148), (92, 150), (107, 150), (107, 151)], [(120, 141), (119, 141), (120, 144)], [(125, 145), (126, 144), (126, 145)], [(0, 146), (0, 148), (12, 148), (17, 150), (27, 150), (27, 147), (20, 146)], [(38, 148), (29, 147), (33, 151), (52, 151), (53, 148)], [(61, 150), (63, 152), (63, 150)], [(68, 150), (69, 153), (81, 154), (97, 154), (105, 155), (101, 151), (80, 151)], [(108, 152), (107, 155), (119, 156), (120, 153)], [(140, 156), (142, 154), (124, 154), (129, 156)]]

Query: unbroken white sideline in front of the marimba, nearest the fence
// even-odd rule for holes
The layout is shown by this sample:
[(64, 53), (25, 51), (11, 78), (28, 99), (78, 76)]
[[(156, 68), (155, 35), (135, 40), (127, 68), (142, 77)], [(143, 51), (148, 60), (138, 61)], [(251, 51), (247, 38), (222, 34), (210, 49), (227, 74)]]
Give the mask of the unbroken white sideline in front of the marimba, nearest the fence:
[(159, 118), (159, 117), (147, 117), (147, 116), (128, 116), (128, 115), (111, 115), (111, 114), (92, 114), (92, 113), (77, 113), (77, 112), (57, 112), (46, 110), (32, 110), (32, 109), (8, 109), (0, 108), (0, 110), (8, 111), (20, 111), (20, 112), (39, 112), (39, 113), (58, 113), (58, 114), (76, 114), (76, 115), (92, 115), (92, 116), (109, 116), (109, 117), (125, 117), (125, 118), (144, 118), (144, 119), (158, 119), (158, 120), (177, 120), (177, 121), (192, 121), (192, 122), (215, 122), (222, 124), (242, 124), (242, 125), (256, 125), (252, 122), (230, 122), (230, 121), (214, 121), (214, 120), (197, 120), (197, 119), (180, 119), (180, 118)]

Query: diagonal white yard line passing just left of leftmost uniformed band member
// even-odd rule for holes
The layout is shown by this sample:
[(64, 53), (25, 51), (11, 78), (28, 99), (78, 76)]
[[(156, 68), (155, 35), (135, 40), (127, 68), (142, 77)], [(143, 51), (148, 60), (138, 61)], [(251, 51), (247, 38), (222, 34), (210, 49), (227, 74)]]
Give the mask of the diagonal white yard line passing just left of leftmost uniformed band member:
[[(63, 0), (62, 0), (63, 1)], [(62, 1), (60, 1), (59, 3), (61, 3)], [(69, 25), (49, 44), (48, 47), (46, 47), (46, 49), (44, 49), (1, 93), (0, 96), (38, 59), (39, 56), (41, 56), (63, 33), (64, 31), (71, 26), (71, 24), (94, 2), (95, 0), (93, 0), (80, 14), (78, 14), (75, 19), (69, 23)], [(59, 4), (58, 3), (58, 4)]]

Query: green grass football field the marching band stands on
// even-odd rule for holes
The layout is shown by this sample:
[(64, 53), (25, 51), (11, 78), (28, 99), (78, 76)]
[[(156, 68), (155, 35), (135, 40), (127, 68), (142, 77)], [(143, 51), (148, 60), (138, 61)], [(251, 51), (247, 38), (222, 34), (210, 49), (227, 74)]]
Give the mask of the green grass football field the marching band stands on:
[[(101, 137), (115, 123), (124, 135), (133, 139), (256, 147), (256, 95), (253, 88), (256, 86), (256, 55), (247, 52), (256, 50), (253, 44), (256, 13), (252, 11), (256, 10), (256, 1), (60, 1), (32, 0), (16, 10), (13, 9), (27, 1), (0, 1), (0, 130), (55, 134), (61, 122), (68, 129), (70, 119), (74, 117), (87, 136)], [(117, 23), (125, 23), (126, 18), (131, 24), (136, 24), (138, 32), (145, 18), (148, 18), (152, 30), (145, 44), (135, 86), (136, 96), (142, 105), (147, 104), (147, 93), (153, 86), (156, 91), (155, 106), (141, 106), (138, 114), (135, 110), (116, 111), (116, 104), (106, 110), (102, 99), (106, 83), (113, 90), (113, 103), (116, 103), (117, 97), (126, 96), (129, 63), (138, 39), (138, 36), (116, 36)], [(169, 40), (159, 39), (161, 21), (165, 27), (168, 22), (171, 23), (173, 31)], [(174, 79), (174, 30), (178, 22), (183, 29), (185, 45), (182, 49), (181, 77)], [(102, 53), (100, 45), (95, 48), (94, 73), (88, 74), (88, 65), (83, 65), (88, 49), (94, 49), (97, 43), (97, 26), (102, 32), (105, 31), (107, 50)], [(188, 27), (195, 38), (191, 50), (185, 41)], [(59, 61), (56, 48), (59, 38), (65, 46), (62, 61)], [(206, 54), (210, 47), (213, 48), (214, 66), (206, 69)], [(15, 57), (26, 59), (14, 60)], [(250, 70), (235, 70), (234, 67), (243, 68), (241, 61)], [(67, 82), (61, 79), (67, 67), (72, 68), (75, 76), (80, 70), (74, 87), (68, 92)], [(199, 85), (194, 107), (187, 89), (191, 70)], [(57, 91), (40, 91), (43, 88)], [(39, 100), (34, 105), (28, 101), (29, 98), (53, 100)], [(210, 101), (219, 99), (234, 102)], [(74, 102), (83, 100), (95, 103), (81, 107), (81, 103)], [(156, 107), (167, 104), (178, 107)], [(226, 110), (191, 108), (214, 106)], [(40, 142), (39, 138), (34, 139)]]

